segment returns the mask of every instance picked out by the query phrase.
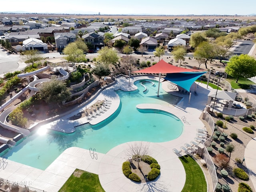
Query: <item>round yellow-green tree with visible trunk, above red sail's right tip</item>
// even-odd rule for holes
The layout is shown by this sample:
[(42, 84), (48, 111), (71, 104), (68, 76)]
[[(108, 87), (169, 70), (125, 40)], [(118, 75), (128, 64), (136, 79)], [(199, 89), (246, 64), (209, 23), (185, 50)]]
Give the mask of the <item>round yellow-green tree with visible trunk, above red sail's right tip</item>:
[(214, 46), (208, 42), (202, 42), (197, 46), (194, 56), (197, 58), (205, 58), (205, 67), (207, 69), (207, 61), (214, 58)]

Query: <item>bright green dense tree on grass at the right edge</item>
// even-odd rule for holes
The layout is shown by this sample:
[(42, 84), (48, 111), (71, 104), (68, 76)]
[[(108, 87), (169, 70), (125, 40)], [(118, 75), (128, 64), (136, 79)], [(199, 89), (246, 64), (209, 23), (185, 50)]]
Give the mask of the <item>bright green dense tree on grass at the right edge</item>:
[(240, 77), (250, 78), (256, 76), (256, 60), (248, 55), (232, 56), (228, 62), (225, 72), (236, 78), (236, 83)]

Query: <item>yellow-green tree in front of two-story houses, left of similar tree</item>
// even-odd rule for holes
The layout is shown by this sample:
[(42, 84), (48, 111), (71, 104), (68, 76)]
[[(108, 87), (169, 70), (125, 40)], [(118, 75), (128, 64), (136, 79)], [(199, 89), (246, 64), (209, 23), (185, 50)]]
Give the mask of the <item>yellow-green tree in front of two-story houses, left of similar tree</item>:
[[(69, 43), (63, 50), (66, 56), (66, 60), (71, 62), (82, 62), (86, 59), (84, 50), (78, 48), (78, 42)], [(87, 47), (87, 46), (86, 46)]]

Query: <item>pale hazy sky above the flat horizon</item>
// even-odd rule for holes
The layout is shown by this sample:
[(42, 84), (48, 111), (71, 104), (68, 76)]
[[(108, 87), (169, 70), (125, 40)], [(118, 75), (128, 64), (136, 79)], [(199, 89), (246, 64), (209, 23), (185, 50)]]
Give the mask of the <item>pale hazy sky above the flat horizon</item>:
[[(241, 0), (8, 0), (0, 12), (67, 14), (256, 14), (256, 1)], [(6, 5), (6, 6), (5, 6)]]

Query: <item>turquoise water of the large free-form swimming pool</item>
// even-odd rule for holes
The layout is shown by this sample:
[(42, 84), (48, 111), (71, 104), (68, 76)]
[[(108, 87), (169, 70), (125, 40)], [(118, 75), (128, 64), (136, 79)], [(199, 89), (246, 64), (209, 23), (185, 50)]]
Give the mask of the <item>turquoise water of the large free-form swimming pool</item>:
[[(148, 81), (148, 80), (147, 80)], [(137, 104), (163, 104), (168, 101), (175, 104), (180, 98), (167, 94), (158, 82), (134, 84), (138, 90), (125, 92), (117, 90), (120, 97), (118, 110), (103, 122), (92, 126), (92, 129), (65, 134), (47, 130), (35, 132), (22, 143), (13, 147), (4, 156), (8, 159), (39, 169), (46, 169), (66, 148), (76, 146), (84, 149), (95, 148), (96, 152), (106, 153), (111, 148), (130, 141), (166, 142), (182, 134), (183, 124), (174, 115), (159, 110), (138, 110)]]

